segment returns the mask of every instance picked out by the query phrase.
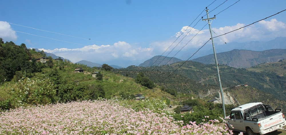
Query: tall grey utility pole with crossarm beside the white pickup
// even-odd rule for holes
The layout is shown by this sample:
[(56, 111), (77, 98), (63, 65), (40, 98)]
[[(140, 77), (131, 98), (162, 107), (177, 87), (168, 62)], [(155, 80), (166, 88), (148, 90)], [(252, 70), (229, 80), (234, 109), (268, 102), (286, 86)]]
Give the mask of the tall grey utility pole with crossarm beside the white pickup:
[[(208, 9), (207, 9), (207, 7), (206, 7), (206, 15), (208, 17)], [(224, 102), (224, 99), (223, 99), (223, 88), (221, 87), (221, 77), (219, 76), (219, 64), (217, 63), (217, 54), (215, 53), (215, 44), (214, 44), (214, 41), (212, 39), (212, 28), (210, 27), (210, 24), (211, 24), (210, 20), (213, 20), (213, 19), (215, 19), (215, 17), (213, 17), (213, 18), (209, 18), (208, 17), (207, 19), (202, 19), (202, 20), (203, 21), (208, 20), (208, 26), (210, 28), (210, 36), (211, 36), (211, 40), (212, 40), (212, 48), (214, 50), (215, 64), (217, 65), (217, 75), (219, 77), (219, 89), (221, 90), (221, 101), (223, 102), (223, 115), (224, 115), (224, 117), (226, 117), (225, 116), (225, 102)]]

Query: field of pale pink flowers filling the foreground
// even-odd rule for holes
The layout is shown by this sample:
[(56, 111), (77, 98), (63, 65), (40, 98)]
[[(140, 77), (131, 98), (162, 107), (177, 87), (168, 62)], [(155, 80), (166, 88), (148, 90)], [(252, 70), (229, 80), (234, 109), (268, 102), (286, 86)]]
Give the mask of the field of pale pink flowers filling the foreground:
[(152, 110), (134, 111), (116, 100), (20, 107), (0, 115), (0, 134), (13, 135), (181, 135), (232, 134), (221, 126), (174, 121)]

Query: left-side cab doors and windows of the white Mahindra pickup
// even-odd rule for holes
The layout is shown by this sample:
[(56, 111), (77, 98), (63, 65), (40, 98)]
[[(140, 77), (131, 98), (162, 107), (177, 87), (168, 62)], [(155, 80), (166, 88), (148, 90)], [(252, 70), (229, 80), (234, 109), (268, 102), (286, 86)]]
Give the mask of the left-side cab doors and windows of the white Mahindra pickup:
[(243, 119), (240, 111), (232, 111), (230, 115), (229, 124), (233, 125), (235, 130), (245, 131)]

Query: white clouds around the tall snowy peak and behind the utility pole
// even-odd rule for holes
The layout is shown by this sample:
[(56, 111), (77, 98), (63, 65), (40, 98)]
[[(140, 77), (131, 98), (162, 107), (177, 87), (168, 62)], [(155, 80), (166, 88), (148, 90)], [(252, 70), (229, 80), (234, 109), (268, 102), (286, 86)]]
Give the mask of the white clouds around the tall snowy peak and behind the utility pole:
[[(212, 33), (213, 37), (236, 30), (229, 34), (214, 38), (215, 44), (222, 45), (225, 44), (225, 42), (243, 43), (250, 41), (273, 40), (276, 37), (286, 35), (285, 23), (277, 21), (276, 19), (271, 19), (270, 21), (261, 21), (259, 23), (247, 26), (245, 28), (241, 28), (244, 26), (246, 25), (237, 23), (234, 26), (224, 26), (220, 28), (213, 27), (212, 28), (212, 31), (214, 31)], [(189, 34), (187, 34), (188, 32)], [(173, 43), (180, 34), (182, 34), (182, 36), (178, 38), (178, 40), (175, 43)], [(194, 36), (195, 34), (197, 35)], [(184, 37), (185, 35), (187, 36)], [(207, 28), (199, 32), (199, 30), (190, 27), (188, 28), (188, 26), (184, 26), (182, 27), (180, 32), (177, 32), (172, 38), (165, 41), (152, 42), (150, 43), (150, 46), (154, 48), (154, 50), (156, 50), (157, 54), (163, 53), (168, 49), (166, 53), (163, 54), (164, 56), (166, 56), (171, 50), (173, 50), (172, 51), (173, 53), (177, 53), (180, 49), (182, 49), (182, 51), (186, 51), (189, 49), (197, 49), (202, 45), (204, 45), (204, 43), (206, 43), (206, 41), (208, 41), (209, 39), (210, 39), (210, 32)], [(211, 44), (211, 42), (208, 42), (208, 44)]]

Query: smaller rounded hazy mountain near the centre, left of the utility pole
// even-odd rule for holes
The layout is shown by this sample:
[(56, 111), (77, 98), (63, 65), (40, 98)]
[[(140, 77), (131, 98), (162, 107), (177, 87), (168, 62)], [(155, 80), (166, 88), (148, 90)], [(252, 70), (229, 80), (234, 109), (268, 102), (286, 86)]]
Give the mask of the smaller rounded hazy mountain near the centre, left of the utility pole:
[(151, 59), (148, 59), (147, 61), (144, 61), (143, 63), (139, 65), (139, 67), (161, 66), (161, 65), (166, 65), (166, 64), (173, 64), (179, 61), (182, 61), (182, 60), (178, 58), (165, 57), (165, 56), (158, 55), (158, 56), (152, 57)]

